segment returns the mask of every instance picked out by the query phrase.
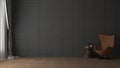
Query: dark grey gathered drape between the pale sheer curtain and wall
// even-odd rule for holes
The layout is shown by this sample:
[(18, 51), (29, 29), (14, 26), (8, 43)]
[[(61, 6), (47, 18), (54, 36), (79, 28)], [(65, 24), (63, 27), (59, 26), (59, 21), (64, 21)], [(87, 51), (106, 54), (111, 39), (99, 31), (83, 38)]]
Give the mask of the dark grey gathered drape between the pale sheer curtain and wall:
[[(5, 0), (5, 15), (6, 15), (6, 25), (7, 25), (7, 30), (8, 30), (8, 37), (7, 37), (7, 43), (8, 43), (8, 51), (7, 51), (7, 56), (8, 56), (8, 59), (14, 59), (14, 56), (12, 54), (12, 25), (11, 25), (11, 4), (8, 5), (7, 3), (11, 3), (11, 0)], [(8, 9), (9, 7), (9, 9)], [(9, 12), (9, 14), (8, 14)]]

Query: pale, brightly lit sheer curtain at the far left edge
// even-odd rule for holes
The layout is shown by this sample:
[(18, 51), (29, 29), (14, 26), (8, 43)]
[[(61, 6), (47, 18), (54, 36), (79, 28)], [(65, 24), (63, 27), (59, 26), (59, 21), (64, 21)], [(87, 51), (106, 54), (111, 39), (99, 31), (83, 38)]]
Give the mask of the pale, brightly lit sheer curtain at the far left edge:
[(6, 56), (6, 15), (5, 0), (0, 0), (0, 60), (4, 60)]

